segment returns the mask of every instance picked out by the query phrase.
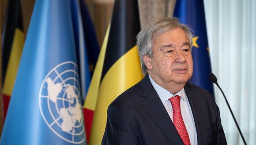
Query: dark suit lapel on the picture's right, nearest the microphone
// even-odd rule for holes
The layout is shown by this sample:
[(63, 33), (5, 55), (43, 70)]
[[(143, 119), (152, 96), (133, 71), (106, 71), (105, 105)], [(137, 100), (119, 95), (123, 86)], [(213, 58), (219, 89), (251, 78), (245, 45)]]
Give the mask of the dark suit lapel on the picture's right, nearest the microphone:
[(192, 92), (191, 87), (186, 84), (185, 92), (188, 97), (188, 101), (192, 110), (192, 114), (194, 117), (195, 125), (196, 125), (196, 134), (197, 134), (197, 143), (198, 145), (205, 145), (206, 144), (206, 136), (205, 136), (205, 127), (203, 116), (201, 115), (200, 104), (196, 94)]

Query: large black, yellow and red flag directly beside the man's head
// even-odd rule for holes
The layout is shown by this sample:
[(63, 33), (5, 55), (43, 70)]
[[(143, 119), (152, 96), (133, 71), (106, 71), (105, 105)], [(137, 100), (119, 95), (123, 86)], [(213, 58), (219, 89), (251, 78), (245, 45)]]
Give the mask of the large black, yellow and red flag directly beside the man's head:
[(84, 104), (87, 130), (92, 122), (90, 145), (101, 144), (109, 104), (143, 78), (136, 46), (139, 30), (137, 0), (116, 0)]

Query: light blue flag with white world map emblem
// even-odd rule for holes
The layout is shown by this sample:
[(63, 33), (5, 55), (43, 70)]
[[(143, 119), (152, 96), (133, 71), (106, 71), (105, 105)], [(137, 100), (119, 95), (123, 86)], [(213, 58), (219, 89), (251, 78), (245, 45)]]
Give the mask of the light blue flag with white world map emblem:
[(86, 144), (78, 9), (77, 0), (36, 0), (0, 145)]

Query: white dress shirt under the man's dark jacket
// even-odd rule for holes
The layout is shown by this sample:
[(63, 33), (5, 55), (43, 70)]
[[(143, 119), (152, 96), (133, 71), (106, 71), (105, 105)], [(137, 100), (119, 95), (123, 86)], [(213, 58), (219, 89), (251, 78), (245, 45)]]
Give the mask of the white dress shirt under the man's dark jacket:
[(172, 121), (173, 121), (173, 107), (171, 102), (169, 101), (169, 98), (176, 95), (181, 96), (181, 115), (184, 120), (185, 127), (188, 131), (189, 140), (191, 145), (197, 145), (196, 125), (194, 122), (191, 107), (189, 105), (188, 98), (184, 88), (182, 88), (181, 91), (179, 91), (178, 93), (172, 94), (169, 91), (167, 91), (165, 88), (155, 83), (150, 75), (148, 76), (149, 76), (149, 80), (151, 81), (154, 89), (156, 90), (158, 96), (160, 97)]

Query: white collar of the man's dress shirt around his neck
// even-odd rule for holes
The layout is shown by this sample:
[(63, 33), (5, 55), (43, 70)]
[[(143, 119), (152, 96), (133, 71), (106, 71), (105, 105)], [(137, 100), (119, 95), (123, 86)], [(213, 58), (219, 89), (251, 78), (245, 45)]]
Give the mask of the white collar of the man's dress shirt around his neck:
[(181, 91), (177, 92), (176, 94), (172, 94), (169, 91), (167, 91), (165, 88), (163, 88), (163, 87), (159, 86), (157, 83), (155, 83), (155, 81), (151, 78), (150, 75), (148, 75), (148, 77), (162, 102), (165, 102), (165, 101), (169, 100), (169, 98), (176, 96), (176, 95), (181, 96), (181, 98), (184, 101), (188, 101), (184, 88), (182, 88)]

